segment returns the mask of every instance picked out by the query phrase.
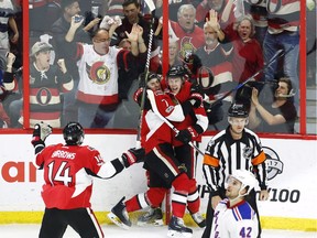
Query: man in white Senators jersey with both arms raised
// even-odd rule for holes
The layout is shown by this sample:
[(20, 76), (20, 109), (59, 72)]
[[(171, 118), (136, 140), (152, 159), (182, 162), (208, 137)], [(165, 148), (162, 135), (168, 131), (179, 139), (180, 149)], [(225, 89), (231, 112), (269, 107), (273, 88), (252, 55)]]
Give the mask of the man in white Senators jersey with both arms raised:
[[(72, 24), (65, 36), (65, 51), (77, 62), (79, 84), (77, 93), (78, 121), (85, 128), (105, 128), (117, 109), (119, 99), (119, 64), (127, 68), (136, 67), (139, 53), (145, 53), (143, 29), (134, 24), (127, 36), (131, 51), (110, 46), (109, 31), (98, 29), (94, 32), (91, 43), (74, 42), (76, 30), (81, 22)], [(116, 28), (116, 25), (111, 25)]]

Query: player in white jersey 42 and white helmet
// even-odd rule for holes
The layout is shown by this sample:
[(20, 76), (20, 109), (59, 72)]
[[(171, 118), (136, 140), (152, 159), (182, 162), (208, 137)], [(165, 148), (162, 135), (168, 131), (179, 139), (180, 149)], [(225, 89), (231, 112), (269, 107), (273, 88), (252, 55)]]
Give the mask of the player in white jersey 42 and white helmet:
[(254, 238), (258, 236), (258, 217), (245, 201), (256, 185), (255, 176), (237, 170), (227, 178), (226, 197), (216, 207), (210, 238)]

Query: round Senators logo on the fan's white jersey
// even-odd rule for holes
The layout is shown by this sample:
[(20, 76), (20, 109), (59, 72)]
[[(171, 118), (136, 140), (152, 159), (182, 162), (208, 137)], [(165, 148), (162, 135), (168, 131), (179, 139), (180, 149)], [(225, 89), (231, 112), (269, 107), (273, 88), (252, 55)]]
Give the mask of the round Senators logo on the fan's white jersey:
[(98, 85), (107, 84), (110, 79), (110, 71), (105, 62), (95, 62), (91, 66), (86, 63), (86, 71), (89, 79)]

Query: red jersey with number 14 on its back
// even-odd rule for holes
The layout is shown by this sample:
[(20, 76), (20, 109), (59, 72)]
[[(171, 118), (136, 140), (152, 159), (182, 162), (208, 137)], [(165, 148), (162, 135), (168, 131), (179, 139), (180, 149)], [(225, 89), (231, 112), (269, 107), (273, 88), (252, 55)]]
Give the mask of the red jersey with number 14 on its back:
[(120, 172), (87, 145), (46, 147), (36, 154), (35, 163), (44, 169), (42, 197), (47, 208), (90, 207), (92, 177), (110, 178)]

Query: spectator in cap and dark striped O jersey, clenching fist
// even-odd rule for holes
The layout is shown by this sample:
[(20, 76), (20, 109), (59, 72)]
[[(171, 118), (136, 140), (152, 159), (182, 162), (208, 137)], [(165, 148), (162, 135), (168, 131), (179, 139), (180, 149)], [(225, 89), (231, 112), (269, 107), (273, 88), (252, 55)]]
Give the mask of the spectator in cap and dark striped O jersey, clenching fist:
[[(30, 127), (41, 121), (53, 128), (61, 127), (62, 94), (73, 89), (74, 82), (67, 72), (65, 60), (51, 65), (53, 46), (46, 42), (36, 42), (31, 48), (30, 65)], [(19, 122), (23, 125), (23, 111)]]

